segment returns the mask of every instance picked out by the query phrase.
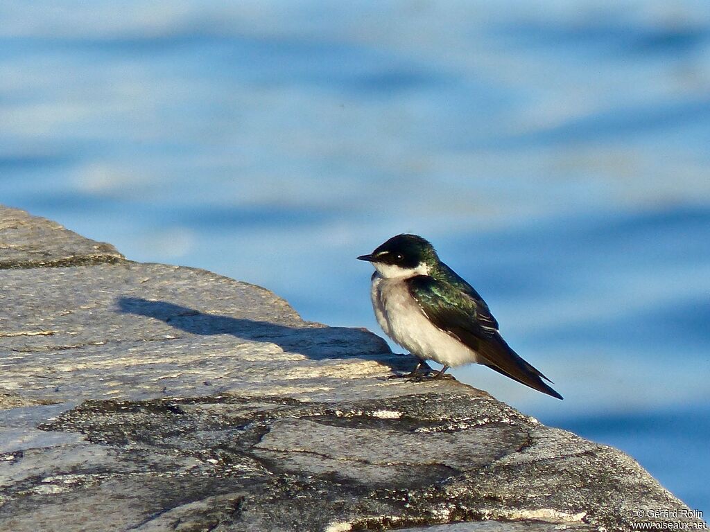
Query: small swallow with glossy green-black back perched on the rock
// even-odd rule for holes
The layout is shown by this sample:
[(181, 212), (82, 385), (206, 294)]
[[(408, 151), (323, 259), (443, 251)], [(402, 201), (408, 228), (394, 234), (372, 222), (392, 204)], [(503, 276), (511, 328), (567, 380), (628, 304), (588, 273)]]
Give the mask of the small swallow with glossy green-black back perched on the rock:
[[(498, 331), (486, 301), (442, 260), (419, 235), (396, 235), (358, 260), (371, 262), (371, 299), (382, 330), (419, 359), (405, 377), (422, 379), (433, 372), (426, 360), (443, 367), (479, 363), (557, 399), (554, 384), (515, 353)], [(427, 372), (422, 375), (421, 367)]]

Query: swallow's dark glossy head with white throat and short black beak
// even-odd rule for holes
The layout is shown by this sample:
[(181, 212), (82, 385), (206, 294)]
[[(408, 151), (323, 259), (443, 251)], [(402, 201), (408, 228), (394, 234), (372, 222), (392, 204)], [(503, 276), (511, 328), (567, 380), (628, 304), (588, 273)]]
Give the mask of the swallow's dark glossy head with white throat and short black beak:
[(393, 236), (370, 255), (361, 255), (382, 277), (413, 277), (428, 275), (439, 262), (439, 257), (428, 240), (418, 235)]

